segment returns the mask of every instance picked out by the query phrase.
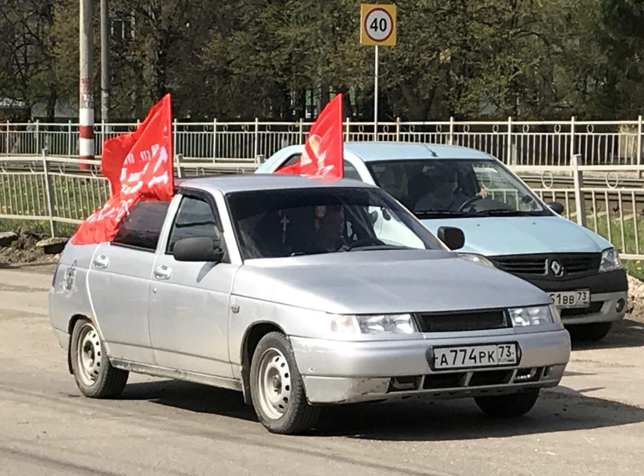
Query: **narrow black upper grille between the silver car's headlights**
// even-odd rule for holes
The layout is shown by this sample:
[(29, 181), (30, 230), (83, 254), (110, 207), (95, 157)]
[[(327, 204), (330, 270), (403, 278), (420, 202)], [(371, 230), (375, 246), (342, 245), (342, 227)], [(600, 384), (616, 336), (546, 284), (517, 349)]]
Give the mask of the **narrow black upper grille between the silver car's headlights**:
[(502, 309), (457, 312), (421, 312), (416, 314), (421, 332), (459, 332), (510, 327)]

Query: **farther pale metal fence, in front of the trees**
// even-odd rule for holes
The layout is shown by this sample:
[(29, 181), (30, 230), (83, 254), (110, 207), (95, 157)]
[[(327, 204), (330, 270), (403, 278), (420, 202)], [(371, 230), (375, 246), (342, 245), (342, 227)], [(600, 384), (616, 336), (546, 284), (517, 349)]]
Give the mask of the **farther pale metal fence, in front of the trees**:
[[(252, 162), (279, 149), (301, 144), (312, 122), (178, 122), (175, 153), (199, 162)], [(105, 138), (137, 124), (96, 124), (95, 154)], [(383, 140), (454, 144), (480, 149), (511, 166), (565, 166), (575, 154), (582, 166), (643, 166), (642, 117), (636, 120), (352, 122), (345, 140)], [(78, 155), (78, 124), (0, 123), (0, 157)]]

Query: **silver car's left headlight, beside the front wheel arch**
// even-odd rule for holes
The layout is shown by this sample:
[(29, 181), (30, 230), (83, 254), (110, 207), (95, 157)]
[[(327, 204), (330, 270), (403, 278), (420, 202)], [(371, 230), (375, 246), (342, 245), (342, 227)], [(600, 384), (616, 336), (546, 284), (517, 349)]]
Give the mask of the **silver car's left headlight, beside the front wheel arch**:
[(344, 334), (412, 334), (417, 332), (412, 314), (335, 315), (331, 330)]

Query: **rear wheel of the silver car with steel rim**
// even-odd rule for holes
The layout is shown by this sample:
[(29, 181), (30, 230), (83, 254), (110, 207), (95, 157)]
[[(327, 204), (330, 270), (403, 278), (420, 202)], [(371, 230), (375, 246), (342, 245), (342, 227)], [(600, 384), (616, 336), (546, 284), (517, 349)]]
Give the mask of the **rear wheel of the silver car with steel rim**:
[(111, 366), (99, 332), (88, 319), (74, 325), (70, 357), (76, 385), (86, 397), (118, 397), (128, 382), (129, 372)]

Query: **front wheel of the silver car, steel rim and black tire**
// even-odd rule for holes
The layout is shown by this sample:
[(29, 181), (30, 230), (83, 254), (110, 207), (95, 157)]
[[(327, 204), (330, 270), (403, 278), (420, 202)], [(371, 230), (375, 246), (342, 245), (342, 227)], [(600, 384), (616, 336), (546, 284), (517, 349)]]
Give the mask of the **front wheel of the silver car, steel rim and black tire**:
[(319, 407), (308, 405), (289, 339), (279, 332), (261, 338), (252, 355), (251, 398), (260, 423), (271, 433), (307, 432), (319, 417)]

